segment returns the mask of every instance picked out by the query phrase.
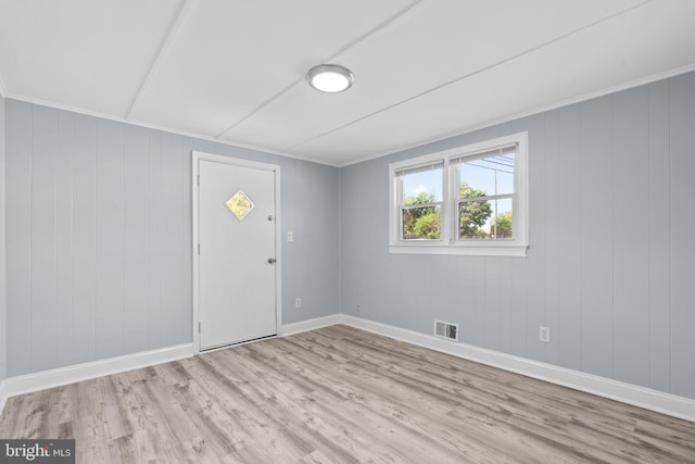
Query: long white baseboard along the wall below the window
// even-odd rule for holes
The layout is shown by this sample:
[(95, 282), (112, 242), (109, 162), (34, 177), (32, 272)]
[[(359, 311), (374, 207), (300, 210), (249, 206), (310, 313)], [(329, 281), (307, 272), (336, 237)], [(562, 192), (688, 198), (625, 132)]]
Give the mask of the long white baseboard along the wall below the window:
[(645, 410), (655, 411), (685, 421), (695, 422), (695, 400), (665, 393), (649, 388), (639, 387), (579, 371), (554, 366), (552, 364), (527, 360), (498, 351), (486, 350), (470, 344), (452, 342), (374, 321), (363, 319), (346, 314), (340, 315), (342, 324), (383, 335), (429, 348), (431, 350), (464, 358), (493, 367), (521, 374), (540, 380), (585, 391), (599, 397), (632, 404)]

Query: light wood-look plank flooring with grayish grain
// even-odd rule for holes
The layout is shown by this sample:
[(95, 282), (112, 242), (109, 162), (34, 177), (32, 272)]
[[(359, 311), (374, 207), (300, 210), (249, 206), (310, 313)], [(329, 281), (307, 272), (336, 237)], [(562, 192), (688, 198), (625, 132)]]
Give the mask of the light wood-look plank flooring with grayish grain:
[(78, 463), (695, 463), (695, 424), (338, 325), (13, 397)]

